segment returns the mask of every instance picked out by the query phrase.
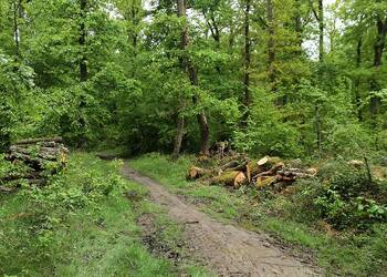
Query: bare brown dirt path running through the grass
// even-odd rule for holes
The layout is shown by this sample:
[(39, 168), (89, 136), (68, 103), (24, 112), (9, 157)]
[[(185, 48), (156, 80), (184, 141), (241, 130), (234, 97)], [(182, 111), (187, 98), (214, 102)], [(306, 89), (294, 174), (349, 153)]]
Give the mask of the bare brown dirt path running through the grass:
[(317, 276), (308, 265), (283, 253), (265, 235), (219, 223), (194, 205), (182, 202), (163, 185), (125, 165), (123, 174), (150, 191), (151, 199), (185, 224), (187, 246), (219, 276)]

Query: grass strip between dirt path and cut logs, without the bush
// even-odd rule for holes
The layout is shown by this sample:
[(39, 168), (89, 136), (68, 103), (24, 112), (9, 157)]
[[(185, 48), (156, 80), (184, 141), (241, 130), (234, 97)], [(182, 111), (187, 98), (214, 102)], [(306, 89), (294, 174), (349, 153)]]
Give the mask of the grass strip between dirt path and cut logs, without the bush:
[[(387, 225), (362, 233), (332, 233), (322, 226), (299, 222), (292, 216), (292, 203), (282, 195), (269, 196), (255, 189), (229, 191), (205, 186), (185, 178), (191, 164), (189, 156), (171, 162), (167, 156), (150, 154), (133, 160), (130, 165), (158, 179), (175, 193), (187, 196), (201, 209), (223, 220), (238, 222), (265, 230), (292, 245), (294, 252), (310, 249), (327, 276), (383, 276), (387, 260)], [(303, 213), (307, 214), (308, 211)]]

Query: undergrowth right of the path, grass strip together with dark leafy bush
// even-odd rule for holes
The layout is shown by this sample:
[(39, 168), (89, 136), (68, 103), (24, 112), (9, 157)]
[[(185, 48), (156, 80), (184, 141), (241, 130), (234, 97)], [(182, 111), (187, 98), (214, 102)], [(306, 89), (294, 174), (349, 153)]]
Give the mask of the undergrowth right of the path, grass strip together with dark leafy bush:
[(387, 224), (380, 199), (385, 188), (384, 184), (369, 187), (363, 172), (331, 164), (322, 170), (322, 174), (331, 176), (330, 182), (300, 182), (286, 195), (188, 182), (186, 172), (191, 163), (191, 156), (172, 162), (159, 154), (130, 161), (133, 167), (185, 195), (212, 216), (269, 232), (292, 250), (311, 253), (328, 276), (385, 274)]

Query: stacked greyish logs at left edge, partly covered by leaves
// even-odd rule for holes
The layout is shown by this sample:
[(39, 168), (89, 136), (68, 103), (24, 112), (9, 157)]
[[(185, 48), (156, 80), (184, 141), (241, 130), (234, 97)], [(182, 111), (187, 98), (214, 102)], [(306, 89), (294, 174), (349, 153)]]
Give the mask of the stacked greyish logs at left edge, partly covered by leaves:
[(61, 137), (29, 138), (10, 146), (4, 158), (10, 171), (0, 176), (0, 192), (11, 193), (14, 186), (25, 181), (31, 185), (43, 185), (46, 177), (56, 174), (66, 165), (69, 150)]

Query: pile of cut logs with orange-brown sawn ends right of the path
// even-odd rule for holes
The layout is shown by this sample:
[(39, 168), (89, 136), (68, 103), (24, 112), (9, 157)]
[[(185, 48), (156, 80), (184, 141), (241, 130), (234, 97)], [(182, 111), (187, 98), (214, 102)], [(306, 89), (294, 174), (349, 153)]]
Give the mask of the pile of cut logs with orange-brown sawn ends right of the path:
[(301, 161), (285, 163), (279, 157), (271, 156), (264, 156), (259, 161), (245, 156), (223, 160), (220, 164), (210, 168), (192, 165), (188, 170), (187, 178), (210, 185), (220, 184), (236, 188), (242, 185), (252, 185), (258, 188), (276, 185), (284, 188), (297, 178), (315, 177), (317, 174), (316, 168), (299, 168), (301, 167)]

